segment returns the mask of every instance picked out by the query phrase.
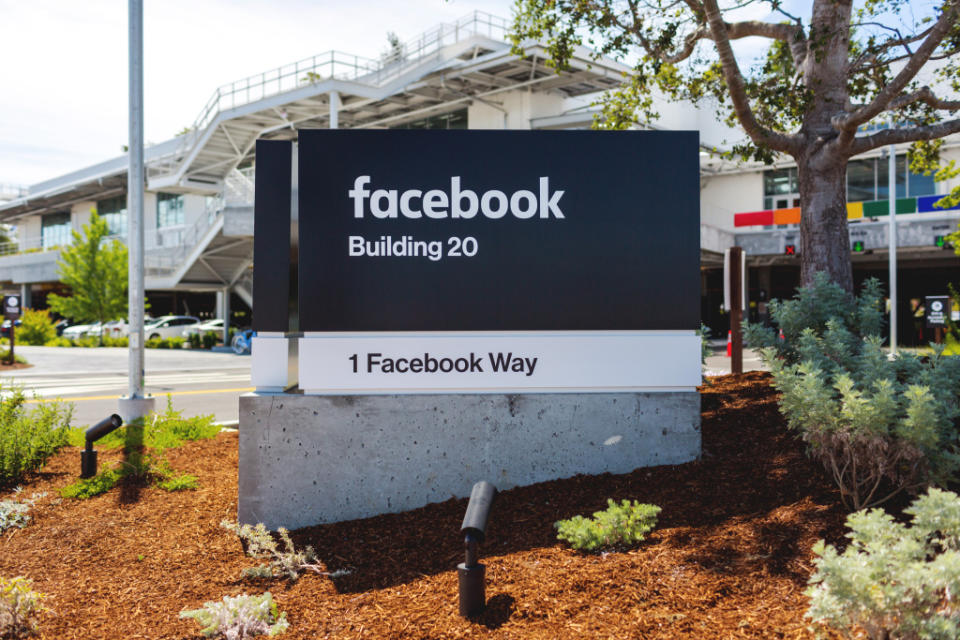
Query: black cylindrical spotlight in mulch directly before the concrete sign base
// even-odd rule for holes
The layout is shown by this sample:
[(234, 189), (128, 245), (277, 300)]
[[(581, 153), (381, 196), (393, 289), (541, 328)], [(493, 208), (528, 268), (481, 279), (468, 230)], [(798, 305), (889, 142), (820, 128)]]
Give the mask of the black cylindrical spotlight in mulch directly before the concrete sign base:
[(466, 559), (457, 565), (457, 577), (460, 583), (460, 615), (465, 618), (479, 615), (487, 604), (484, 585), (486, 568), (480, 564), (480, 544), (486, 537), (490, 506), (496, 495), (496, 487), (489, 482), (480, 481), (473, 485), (467, 512), (460, 526)]

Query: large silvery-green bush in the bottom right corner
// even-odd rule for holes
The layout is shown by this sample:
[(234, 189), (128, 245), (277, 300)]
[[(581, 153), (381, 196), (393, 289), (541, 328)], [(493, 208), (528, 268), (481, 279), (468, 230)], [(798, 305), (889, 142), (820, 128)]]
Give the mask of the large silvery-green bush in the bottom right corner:
[(960, 498), (931, 489), (905, 512), (912, 527), (858, 511), (843, 553), (814, 546), (807, 617), (847, 637), (856, 627), (874, 640), (960, 637)]

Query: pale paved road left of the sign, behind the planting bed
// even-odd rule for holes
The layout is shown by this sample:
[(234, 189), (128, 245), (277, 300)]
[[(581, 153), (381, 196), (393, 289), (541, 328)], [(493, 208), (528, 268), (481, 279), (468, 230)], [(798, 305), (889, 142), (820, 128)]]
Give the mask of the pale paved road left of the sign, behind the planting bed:
[[(74, 426), (92, 424), (117, 411), (127, 393), (127, 350), (18, 346), (16, 353), (34, 365), (0, 375), (40, 398), (62, 398), (74, 405)], [(166, 407), (193, 416), (212, 413), (219, 422), (239, 415), (238, 398), (251, 391), (250, 356), (186, 349), (147, 349), (147, 393)]]

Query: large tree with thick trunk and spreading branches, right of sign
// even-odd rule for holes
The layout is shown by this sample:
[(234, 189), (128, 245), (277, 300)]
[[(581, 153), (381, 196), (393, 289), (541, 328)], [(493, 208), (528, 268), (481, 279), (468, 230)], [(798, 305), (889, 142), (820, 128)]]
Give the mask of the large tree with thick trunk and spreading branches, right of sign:
[[(630, 82), (602, 101), (602, 127), (654, 120), (655, 89), (674, 100), (715, 98), (721, 117), (749, 137), (728, 155), (769, 163), (779, 153), (797, 163), (803, 286), (825, 271), (852, 292), (847, 160), (911, 142), (912, 166), (931, 170), (939, 140), (960, 132), (960, 100), (945, 99), (960, 92), (960, 0), (933, 2), (914, 17), (908, 0), (814, 0), (803, 19), (781, 0), (517, 0), (512, 37), (515, 45), (545, 39), (558, 69), (584, 43), (598, 55), (636, 57)], [(747, 5), (785, 20), (727, 21)], [(733, 41), (748, 37), (769, 45), (744, 71)], [(922, 84), (927, 76), (934, 81)], [(896, 126), (879, 128), (889, 118)]]

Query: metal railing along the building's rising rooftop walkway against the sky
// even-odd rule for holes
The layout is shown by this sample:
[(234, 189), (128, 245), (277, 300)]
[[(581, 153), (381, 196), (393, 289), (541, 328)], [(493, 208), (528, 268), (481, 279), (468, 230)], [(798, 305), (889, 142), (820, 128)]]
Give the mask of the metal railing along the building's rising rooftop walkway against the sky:
[(200, 114), (183, 135), (174, 156), (182, 157), (192, 148), (218, 114), (270, 96), (317, 84), (331, 78), (382, 86), (404, 71), (422, 63), (443, 47), (481, 35), (506, 40), (510, 21), (483, 11), (442, 23), (390, 51), (380, 59), (364, 58), (340, 51), (327, 51), (276, 69), (222, 85), (210, 96)]

